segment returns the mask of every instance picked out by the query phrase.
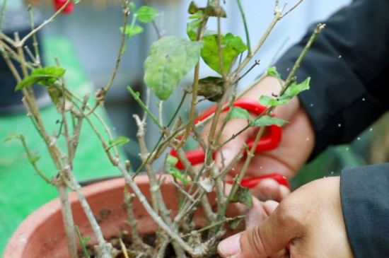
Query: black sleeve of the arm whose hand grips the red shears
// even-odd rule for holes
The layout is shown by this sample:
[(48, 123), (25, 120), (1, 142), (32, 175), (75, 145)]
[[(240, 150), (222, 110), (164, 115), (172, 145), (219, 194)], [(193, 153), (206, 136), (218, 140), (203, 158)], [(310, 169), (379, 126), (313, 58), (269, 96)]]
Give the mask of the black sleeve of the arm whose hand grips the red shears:
[[(374, 122), (389, 101), (389, 1), (356, 0), (326, 23), (298, 69), (311, 77), (299, 95), (315, 129), (317, 156), (330, 144), (352, 141)], [(277, 62), (283, 77), (306, 45), (315, 25)]]

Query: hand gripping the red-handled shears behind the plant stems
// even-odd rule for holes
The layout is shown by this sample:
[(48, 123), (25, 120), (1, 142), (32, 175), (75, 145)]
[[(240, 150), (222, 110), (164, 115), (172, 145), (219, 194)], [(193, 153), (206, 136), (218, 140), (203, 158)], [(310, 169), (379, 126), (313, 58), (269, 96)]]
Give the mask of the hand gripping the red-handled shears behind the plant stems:
[[(257, 84), (252, 90), (243, 95), (242, 98), (251, 98), (259, 100), (261, 95), (278, 94), (281, 86), (277, 78), (267, 77)], [(279, 146), (272, 151), (256, 153), (250, 161), (245, 177), (255, 177), (258, 175), (280, 173), (287, 178), (293, 177), (299, 168), (306, 162), (314, 146), (314, 131), (310, 124), (308, 115), (300, 105), (298, 98), (293, 98), (286, 105), (281, 105), (274, 110), (274, 115), (281, 119), (289, 121), (282, 128), (282, 139)], [(221, 114), (219, 121), (223, 121), (226, 112)], [(231, 138), (233, 134), (243, 129), (248, 122), (245, 119), (231, 119), (227, 122), (226, 127), (219, 139), (219, 143)], [(219, 126), (221, 122), (219, 123)], [(202, 130), (205, 139), (209, 132), (210, 123)], [(216, 131), (219, 131), (217, 129)], [(235, 139), (226, 143), (220, 148), (215, 157), (216, 165), (219, 168), (231, 163), (233, 158), (238, 155), (245, 141), (252, 139), (257, 134), (258, 127), (250, 127)], [(233, 170), (227, 175), (227, 180), (231, 180), (236, 173), (243, 168), (244, 158), (237, 163)], [(274, 199), (281, 201), (290, 191), (284, 185), (278, 184), (275, 180), (262, 180), (256, 187), (252, 188), (252, 194), (255, 197), (267, 200)]]

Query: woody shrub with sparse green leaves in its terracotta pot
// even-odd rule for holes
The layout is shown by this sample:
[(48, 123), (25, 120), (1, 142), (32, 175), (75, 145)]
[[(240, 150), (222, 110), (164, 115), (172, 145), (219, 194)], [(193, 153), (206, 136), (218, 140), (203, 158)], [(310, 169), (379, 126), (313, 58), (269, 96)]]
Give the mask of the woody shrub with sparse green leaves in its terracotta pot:
[[(266, 76), (276, 76), (283, 88), (281, 92), (276, 93), (276, 97), (262, 96), (258, 101), (264, 109), (259, 115), (251, 117), (248, 110), (234, 105), (243, 95), (243, 93), (237, 93), (236, 85), (244, 75), (243, 71), (250, 71), (250, 67), (246, 66), (257, 65), (257, 61), (252, 61), (252, 57), (265, 42), (274, 25), (296, 6), (288, 11), (285, 6), (281, 8), (279, 2), (276, 1), (274, 18), (268, 30), (255, 47), (251, 47), (247, 27), (245, 27), (245, 43), (240, 37), (221, 31), (221, 19), (226, 18), (226, 12), (219, 0), (207, 1), (204, 6), (197, 6), (192, 1), (188, 8), (190, 13), (190, 22), (187, 24), (188, 38), (164, 36), (159, 37), (151, 45), (149, 56), (144, 62), (144, 82), (149, 88), (146, 96), (140, 96), (128, 87), (129, 93), (134, 100), (139, 102), (145, 112), (144, 117), (134, 115), (134, 123), (138, 128), (137, 137), (141, 147), (142, 164), (132, 171), (129, 161), (120, 156), (120, 152), (117, 151), (117, 148), (127, 143), (129, 139), (123, 136), (112, 136), (105, 121), (100, 119), (95, 111), (101, 108), (105, 96), (110, 91), (122, 54), (127, 50), (128, 40), (142, 32), (140, 23), (153, 22), (158, 12), (150, 6), (138, 8), (129, 0), (122, 1), (124, 21), (121, 28), (122, 42), (117, 50), (117, 63), (108, 85), (96, 90), (94, 100), (91, 100), (89, 93), (77, 96), (69, 90), (64, 80), (66, 69), (62, 68), (59, 63), (57, 66), (42, 67), (38, 49), (23, 48), (26, 40), (35, 39), (34, 35), (37, 31), (52, 22), (62, 11), (69, 10), (70, 4), (77, 2), (79, 1), (62, 1), (57, 6), (58, 11), (51, 18), (36, 28), (32, 25), (31, 32), (25, 37), (21, 38), (16, 33), (15, 37), (11, 38), (0, 33), (0, 51), (11, 74), (16, 78), (15, 90), (23, 93), (23, 103), (28, 117), (47, 146), (47, 151), (50, 153), (58, 174), (52, 178), (45, 175), (39, 168), (39, 157), (30, 151), (23, 135), (10, 133), (5, 141), (21, 140), (35, 172), (48, 184), (54, 185), (59, 193), (59, 199), (51, 203), (54, 204), (54, 208), (43, 206), (41, 209), (43, 215), (33, 213), (22, 223), (31, 229), (28, 221), (30, 219), (38, 227), (33, 230), (18, 229), (6, 248), (4, 257), (78, 257), (78, 250), (88, 256), (90, 254), (86, 250), (87, 244), (94, 246), (95, 254), (93, 255), (95, 257), (112, 257), (119, 255), (118, 252), (121, 252), (121, 257), (129, 257), (128, 247), (124, 245), (127, 235), (132, 236), (132, 251), (129, 252), (132, 256), (135, 255), (134, 257), (172, 257), (173, 255), (176, 257), (212, 257), (215, 254), (216, 243), (223, 238), (226, 230), (236, 228), (236, 224), (243, 218), (236, 212), (228, 214), (228, 206), (231, 203), (252, 206), (250, 191), (247, 187), (240, 185), (245, 169), (240, 171), (231, 184), (226, 184), (225, 176), (231, 166), (243, 158), (243, 153), (247, 153), (245, 163), (250, 162), (265, 127), (274, 125), (280, 127), (285, 122), (272, 116), (274, 107), (288, 102), (299, 92), (308, 88), (309, 78), (303, 83), (296, 83), (294, 73), (323, 25), (318, 25), (318, 29), (315, 30), (301, 57), (296, 60), (296, 65), (291, 69), (286, 81), (281, 81), (274, 67), (266, 69), (265, 74), (258, 78), (257, 81), (260, 81)], [(240, 6), (240, 1), (237, 2)], [(6, 1), (3, 3), (5, 6)], [(56, 3), (58, 4), (59, 1)], [(32, 12), (31, 8), (29, 10)], [(238, 11), (242, 14), (243, 22), (246, 23), (243, 9), (240, 8)], [(211, 19), (216, 20), (219, 25), (215, 31), (207, 27), (207, 22)], [(38, 42), (35, 41), (35, 46), (37, 44)], [(26, 61), (26, 54), (31, 56), (33, 62)], [(18, 73), (11, 59), (18, 61), (21, 73)], [(204, 60), (219, 76), (200, 78), (200, 59)], [(163, 121), (164, 101), (173, 91), (179, 89), (180, 81), (190, 72), (193, 76), (192, 85), (182, 90), (182, 100), (178, 102), (169, 121)], [(30, 88), (34, 83), (45, 87), (53, 105), (57, 108), (62, 126), (56, 134), (51, 134), (45, 129), (45, 122)], [(157, 103), (158, 115), (153, 114), (149, 108), (148, 99), (152, 94), (151, 91), (160, 100)], [(178, 115), (178, 112), (187, 95), (190, 95), (191, 104), (184, 118)], [(199, 121), (195, 111), (197, 104), (202, 100), (211, 100), (216, 104), (207, 117)], [(226, 119), (219, 122), (222, 112), (227, 112)], [(159, 140), (151, 149), (147, 148), (145, 143), (146, 117), (151, 118), (158, 127), (159, 133)], [(221, 128), (223, 128), (223, 124), (228, 119), (238, 117), (248, 120), (246, 129), (249, 127), (260, 127), (261, 129), (252, 142), (252, 146), (243, 146), (240, 155), (236, 156), (230, 165), (217, 168), (213, 162), (213, 153), (224, 143), (217, 141), (222, 129), (216, 131), (216, 124), (221, 123)], [(205, 122), (212, 124), (208, 139), (203, 139), (199, 132), (199, 128)], [(122, 175), (120, 179), (94, 185), (93, 187), (102, 190), (101, 194), (97, 194), (92, 186), (82, 188), (76, 179), (76, 171), (73, 169), (77, 146), (83, 141), (80, 138), (80, 131), (84, 123), (91, 125), (108, 157), (107, 162), (112, 163)], [(99, 130), (95, 124), (103, 124), (103, 130)], [(190, 157), (184, 151), (185, 143), (189, 138), (194, 139), (204, 153), (202, 159), (204, 165), (199, 170), (194, 170)], [(162, 171), (166, 171), (164, 174), (155, 168), (154, 164), (158, 159), (163, 160)], [(139, 175), (141, 171), (146, 171), (146, 175)], [(145, 181), (145, 177), (147, 178), (146, 184), (140, 184)], [(168, 194), (173, 196), (168, 196)], [(239, 209), (233, 210), (239, 211)], [(35, 221), (40, 217), (46, 217), (49, 221), (43, 223)], [(146, 222), (144, 219), (146, 217), (151, 218), (152, 222)], [(55, 231), (53, 227), (59, 225), (59, 218), (63, 218), (63, 225)], [(43, 225), (47, 225), (48, 229), (44, 229)], [(149, 230), (150, 225), (151, 230)], [(147, 228), (143, 234), (154, 233), (156, 240), (152, 244), (145, 242), (139, 236), (140, 228)], [(35, 238), (39, 231), (42, 231), (46, 237), (50, 236), (51, 240)], [(112, 247), (112, 242), (107, 241), (112, 235), (118, 237), (119, 244), (115, 247)], [(64, 241), (65, 238), (66, 241)], [(91, 240), (87, 241), (88, 238)], [(13, 240), (16, 242), (12, 242)], [(16, 248), (23, 242), (30, 242), (30, 245), (23, 245), (25, 250), (16, 251)], [(64, 247), (65, 242), (67, 248), (60, 249), (59, 246)], [(173, 250), (174, 254), (166, 254), (168, 249)], [(47, 250), (48, 253), (35, 254), (35, 250)]]

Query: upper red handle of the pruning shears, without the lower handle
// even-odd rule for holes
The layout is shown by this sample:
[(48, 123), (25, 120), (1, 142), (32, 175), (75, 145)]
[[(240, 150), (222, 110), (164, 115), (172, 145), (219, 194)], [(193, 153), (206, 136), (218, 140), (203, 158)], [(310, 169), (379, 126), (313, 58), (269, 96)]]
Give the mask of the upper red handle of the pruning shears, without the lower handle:
[[(262, 112), (265, 112), (266, 107), (260, 105), (256, 100), (251, 99), (238, 99), (235, 102), (233, 102), (233, 107), (241, 107), (245, 110), (248, 110), (249, 112), (254, 112), (257, 115), (262, 114)], [(229, 107), (226, 107), (223, 112), (228, 111)], [(209, 107), (207, 110), (204, 110), (203, 115), (201, 115), (199, 118), (194, 120), (194, 124), (197, 124), (198, 122), (201, 122), (202, 120), (206, 119), (210, 115), (212, 115), (216, 110), (216, 106)], [(281, 141), (281, 127), (273, 124), (268, 127), (269, 128), (269, 134), (267, 136), (263, 136), (260, 141), (257, 144), (257, 148), (255, 148), (255, 152), (259, 151), (270, 151), (274, 148), (277, 148), (279, 142)], [(248, 145), (248, 148), (252, 148), (254, 144), (255, 139), (250, 139), (246, 142)], [(193, 151), (187, 151), (185, 152), (187, 159), (190, 161), (192, 165), (196, 165), (199, 163), (204, 163), (205, 159), (205, 153), (202, 148), (198, 148)], [(177, 156), (177, 153), (175, 153), (174, 150), (170, 151), (171, 156)], [(182, 165), (181, 161), (178, 160), (178, 163), (175, 165), (176, 168), (182, 170), (184, 169), (184, 165)]]

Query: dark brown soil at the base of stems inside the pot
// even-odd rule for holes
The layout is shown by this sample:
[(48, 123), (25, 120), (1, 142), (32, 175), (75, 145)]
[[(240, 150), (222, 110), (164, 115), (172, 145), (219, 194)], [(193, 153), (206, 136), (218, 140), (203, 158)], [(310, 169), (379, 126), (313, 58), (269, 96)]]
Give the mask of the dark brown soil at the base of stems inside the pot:
[[(156, 240), (156, 235), (155, 234), (144, 235), (142, 239), (143, 239), (143, 242), (146, 243), (147, 245), (153, 245), (155, 240)], [(124, 252), (122, 250), (122, 246), (120, 245), (120, 238), (119, 237), (111, 238), (108, 241), (112, 244), (112, 247), (114, 247), (114, 249), (117, 250), (117, 254), (113, 258), (126, 258), (124, 256)], [(131, 238), (123, 236), (122, 237), (122, 241), (124, 242), (124, 245), (127, 248), (127, 254), (128, 254), (129, 258), (135, 258), (135, 257), (146, 258), (147, 257), (146, 255), (139, 256), (139, 254), (140, 254), (139, 251), (134, 252), (133, 242), (132, 242)], [(96, 257), (95, 256), (95, 250), (94, 250), (93, 246), (87, 245), (86, 249), (88, 250), (88, 254), (89, 254), (89, 256), (91, 258), (95, 258)], [(174, 250), (173, 250), (173, 247), (171, 245), (169, 245), (166, 248), (166, 253), (165, 253), (164, 257), (165, 258), (175, 258), (176, 257), (175, 253), (174, 253)], [(82, 250), (79, 250), (79, 258), (86, 258), (85, 254), (83, 254)], [(213, 254), (209, 258), (221, 258), (221, 256), (216, 253), (216, 254)]]

